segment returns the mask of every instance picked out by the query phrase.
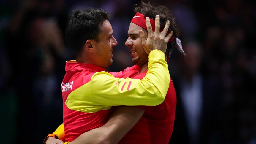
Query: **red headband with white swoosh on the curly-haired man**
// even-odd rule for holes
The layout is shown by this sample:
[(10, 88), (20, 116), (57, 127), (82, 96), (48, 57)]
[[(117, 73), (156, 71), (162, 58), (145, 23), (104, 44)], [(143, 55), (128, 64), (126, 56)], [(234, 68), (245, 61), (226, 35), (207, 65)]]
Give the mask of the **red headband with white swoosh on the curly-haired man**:
[[(149, 18), (149, 20), (150, 20), (150, 24), (152, 26), (152, 30), (155, 31), (155, 20), (153, 20), (151, 18)], [(146, 16), (144, 16), (143, 14), (141, 14), (139, 12), (137, 12), (135, 14), (135, 16), (132, 18), (131, 22), (136, 24), (136, 25), (138, 25), (138, 26), (140, 26), (140, 27), (142, 27), (143, 29), (147, 29)], [(164, 28), (162, 28), (162, 26), (160, 26), (160, 30), (159, 31), (162, 32), (163, 30), (164, 30)], [(170, 31), (168, 30), (167, 34), (169, 34), (169, 33), (170, 33)], [(174, 39), (174, 37), (172, 36), (170, 38), (169, 42), (172, 42), (173, 39)]]

